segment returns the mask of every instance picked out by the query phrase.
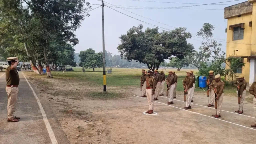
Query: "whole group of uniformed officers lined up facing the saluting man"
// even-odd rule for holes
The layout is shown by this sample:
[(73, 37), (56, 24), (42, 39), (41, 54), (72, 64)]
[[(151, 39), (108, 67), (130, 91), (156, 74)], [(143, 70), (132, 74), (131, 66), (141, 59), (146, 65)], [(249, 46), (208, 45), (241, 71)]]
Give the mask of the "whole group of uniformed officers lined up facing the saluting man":
[[(147, 97), (148, 100), (148, 111), (146, 113), (152, 114), (154, 110), (154, 100), (158, 100), (158, 96), (164, 95), (164, 86), (166, 81), (167, 86), (167, 97), (169, 96), (169, 100), (167, 102), (168, 105), (174, 104), (173, 99), (176, 98), (176, 88), (178, 76), (174, 71), (168, 71), (169, 75), (165, 79), (164, 71), (161, 70), (160, 74), (158, 70), (146, 70), (142, 69), (141, 76), (141, 97)], [(193, 96), (195, 91), (196, 77), (193, 74), (193, 70), (189, 70), (186, 72), (186, 77), (183, 80), (183, 88), (184, 88), (184, 101), (185, 107), (184, 109), (191, 109), (191, 102), (193, 102)], [(214, 75), (214, 71), (209, 71), (209, 76), (207, 77), (207, 87), (208, 87), (208, 96), (210, 97), (210, 102), (208, 100), (208, 107), (212, 107), (215, 104), (216, 114), (212, 115), (215, 118), (221, 117), (221, 106), (224, 96), (224, 85), (225, 83), (221, 80), (221, 76)], [(246, 85), (247, 82), (244, 79), (243, 75), (240, 75), (235, 84), (237, 87), (237, 97), (238, 97), (238, 112), (239, 114), (243, 113), (243, 105), (246, 96)], [(253, 105), (254, 110), (256, 112), (256, 82), (254, 82), (250, 89), (250, 94), (254, 96)], [(255, 115), (255, 125), (251, 125), (251, 127), (256, 127), (256, 115)]]

